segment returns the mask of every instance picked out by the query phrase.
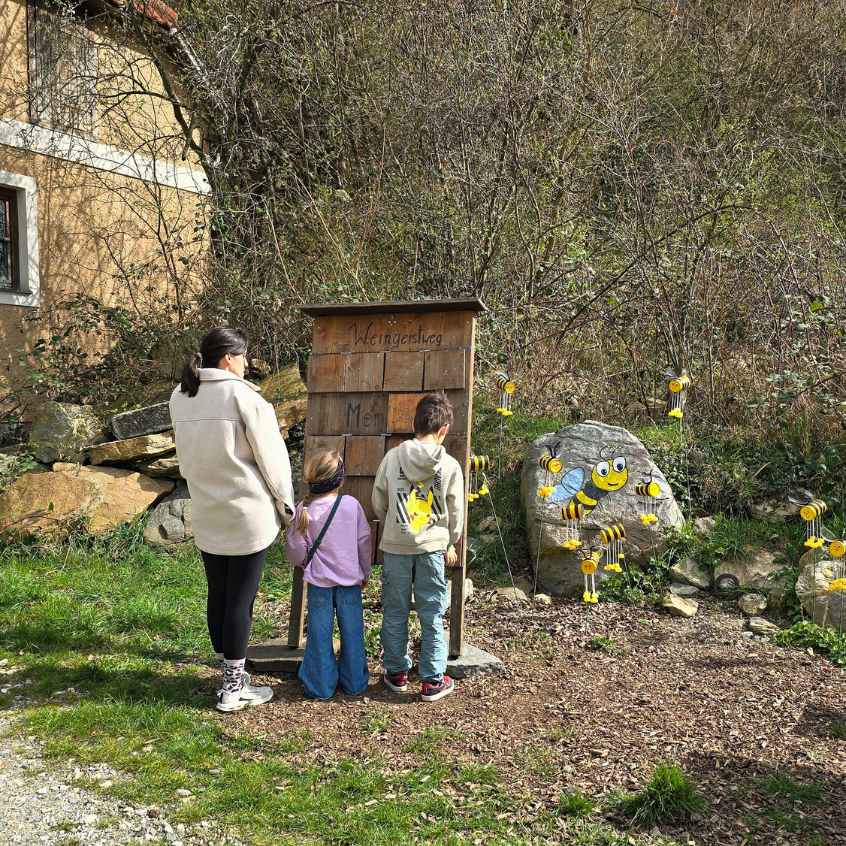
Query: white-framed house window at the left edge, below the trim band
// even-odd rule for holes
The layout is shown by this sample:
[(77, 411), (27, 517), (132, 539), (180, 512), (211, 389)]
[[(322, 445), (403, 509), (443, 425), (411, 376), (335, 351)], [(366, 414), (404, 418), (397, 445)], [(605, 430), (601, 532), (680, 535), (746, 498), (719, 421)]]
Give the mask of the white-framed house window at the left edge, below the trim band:
[(37, 202), (31, 176), (0, 170), (0, 307), (38, 305)]

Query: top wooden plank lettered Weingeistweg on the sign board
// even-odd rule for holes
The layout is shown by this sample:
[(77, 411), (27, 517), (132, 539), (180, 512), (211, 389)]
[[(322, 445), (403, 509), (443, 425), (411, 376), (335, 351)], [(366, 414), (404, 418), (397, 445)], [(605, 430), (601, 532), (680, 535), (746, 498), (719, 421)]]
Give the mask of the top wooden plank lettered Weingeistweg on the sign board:
[(313, 353), (469, 349), (472, 311), (334, 315), (314, 324)]

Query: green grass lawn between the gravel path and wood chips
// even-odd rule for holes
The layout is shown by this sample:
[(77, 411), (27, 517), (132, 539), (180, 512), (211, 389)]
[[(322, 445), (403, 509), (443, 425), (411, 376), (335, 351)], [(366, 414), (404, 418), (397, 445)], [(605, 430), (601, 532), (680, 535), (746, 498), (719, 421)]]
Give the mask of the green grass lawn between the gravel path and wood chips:
[[(275, 553), (263, 597), (284, 598), (288, 574)], [(259, 606), (257, 637), (271, 631)], [(233, 730), (211, 709), (200, 562), (191, 549), (153, 551), (137, 526), (52, 550), (4, 549), (0, 633), (0, 659), (28, 680), (0, 707), (25, 691), (21, 729), (42, 738), (48, 756), (113, 764), (127, 778), (110, 792), (173, 803), (175, 820), (215, 821), (256, 844), (553, 842), (562, 826), (574, 844), (631, 842), (602, 823), (528, 811), (495, 768), (451, 762), (446, 729), (410, 745), (414, 767), (380, 755), (374, 736), (389, 718), (378, 711), (350, 726), (360, 755), (323, 766), (297, 760), (315, 742), (308, 732)], [(175, 802), (178, 788), (194, 798)]]

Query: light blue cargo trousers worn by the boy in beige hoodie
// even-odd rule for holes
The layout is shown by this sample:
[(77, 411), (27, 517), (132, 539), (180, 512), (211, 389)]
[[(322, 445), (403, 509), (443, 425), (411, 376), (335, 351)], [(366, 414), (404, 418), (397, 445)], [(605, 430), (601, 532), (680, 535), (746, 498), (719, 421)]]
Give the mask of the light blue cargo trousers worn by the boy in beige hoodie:
[(411, 669), (408, 655), (408, 614), (411, 586), (420, 619), (420, 678), (438, 681), (446, 670), (447, 642), (444, 612), (447, 606), (447, 580), (444, 553), (420, 555), (384, 553), (382, 567), (382, 664), (389, 674)]

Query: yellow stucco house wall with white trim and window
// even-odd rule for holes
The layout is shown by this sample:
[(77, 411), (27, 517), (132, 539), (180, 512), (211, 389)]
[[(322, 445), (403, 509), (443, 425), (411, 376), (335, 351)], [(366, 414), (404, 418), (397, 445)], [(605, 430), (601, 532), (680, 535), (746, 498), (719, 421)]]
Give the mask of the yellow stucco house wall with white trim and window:
[[(0, 0), (0, 387), (69, 295), (143, 309), (197, 284), (208, 184), (149, 53), (113, 37), (119, 6)], [(175, 21), (131, 11), (161, 38)]]

